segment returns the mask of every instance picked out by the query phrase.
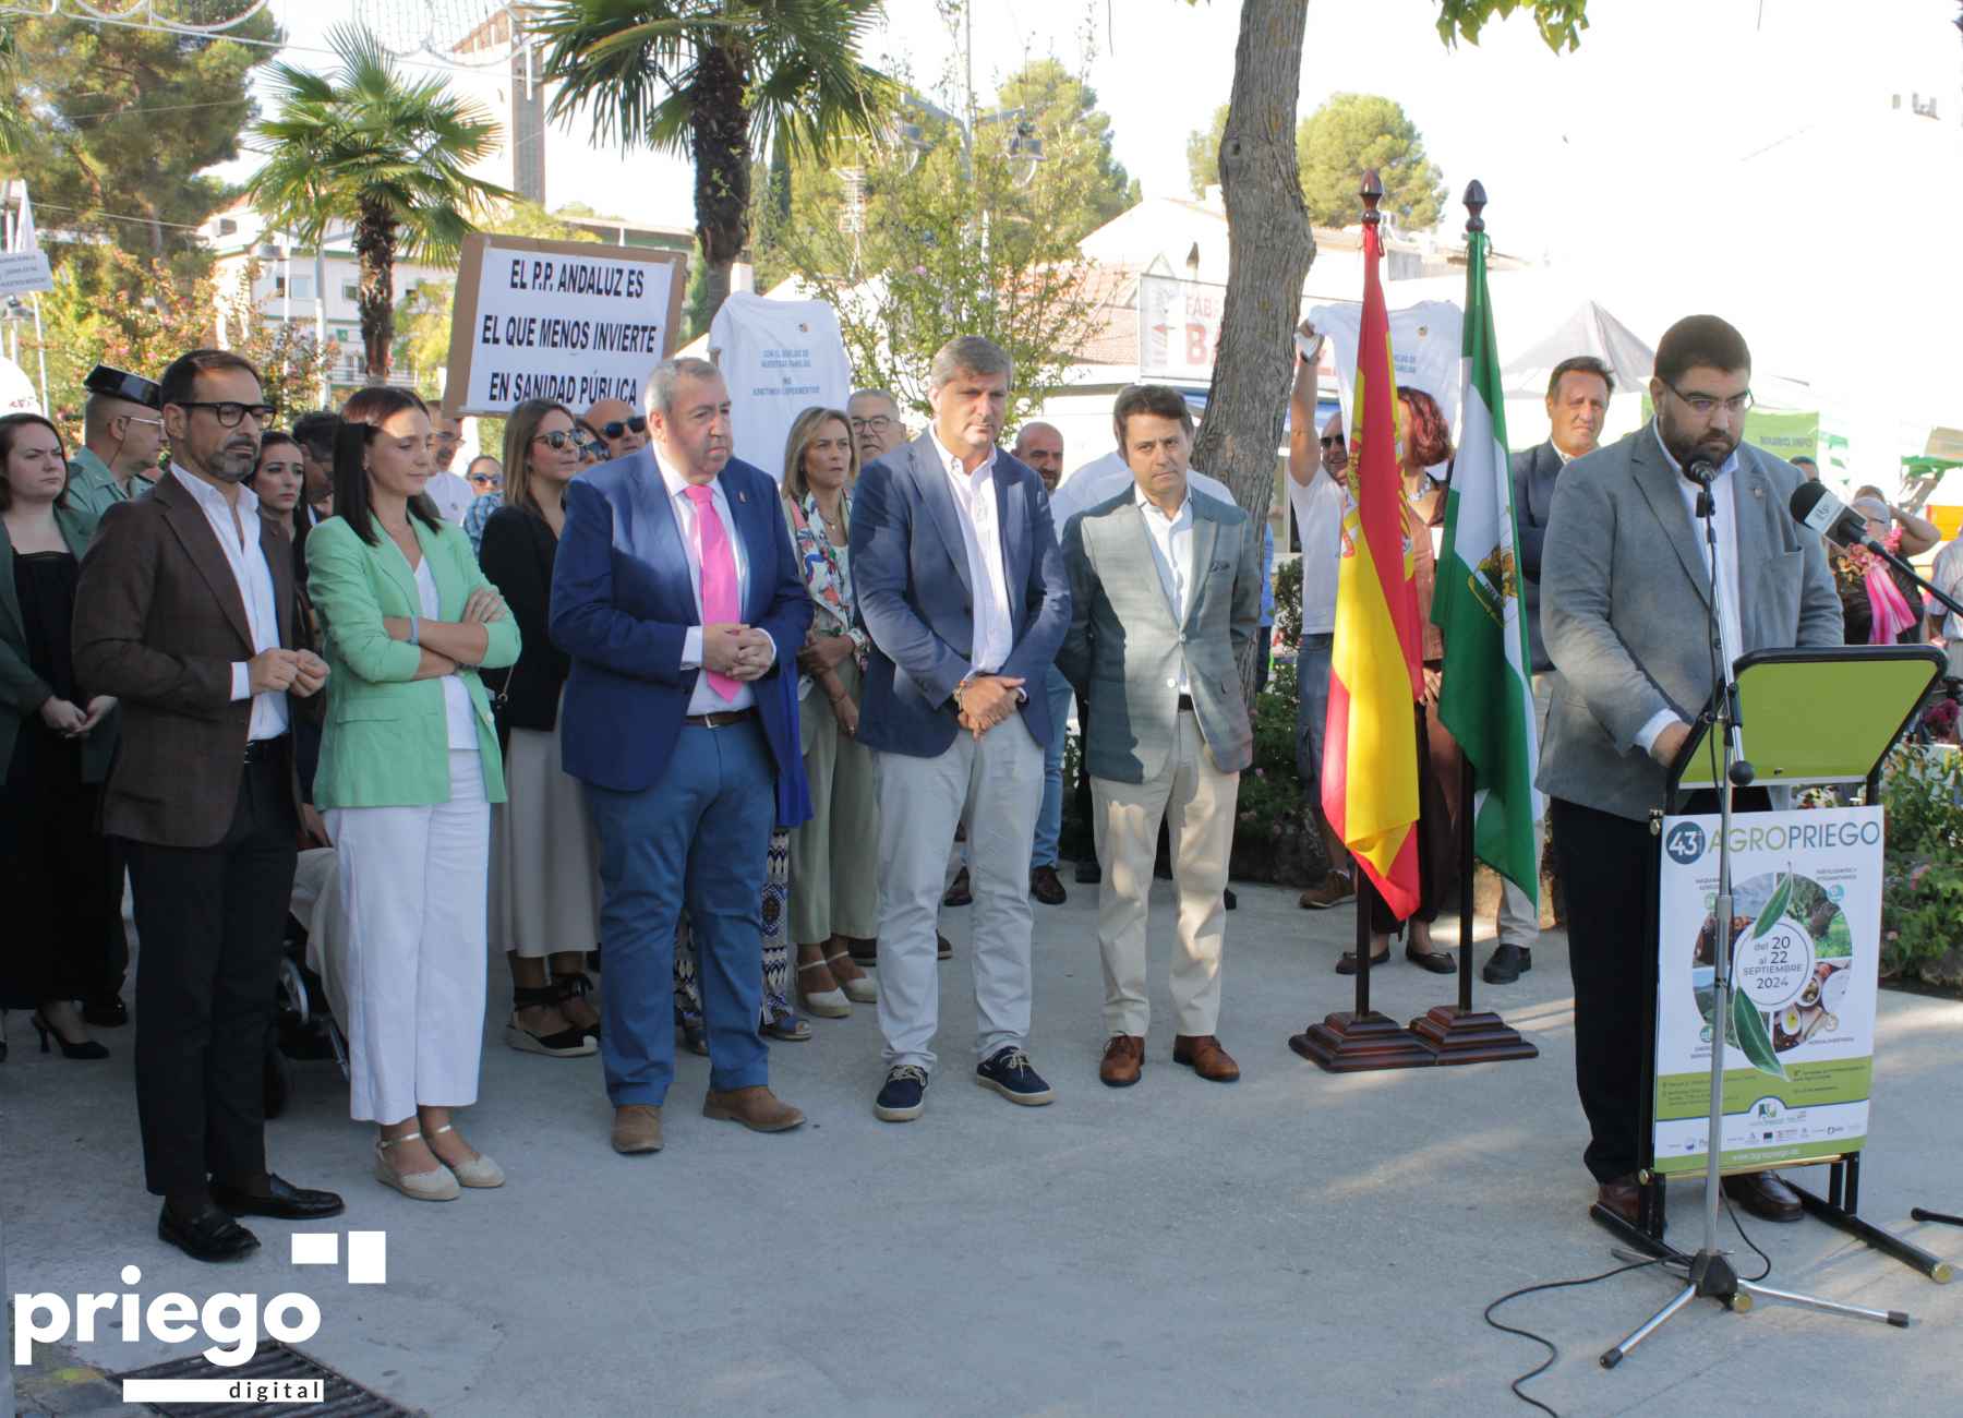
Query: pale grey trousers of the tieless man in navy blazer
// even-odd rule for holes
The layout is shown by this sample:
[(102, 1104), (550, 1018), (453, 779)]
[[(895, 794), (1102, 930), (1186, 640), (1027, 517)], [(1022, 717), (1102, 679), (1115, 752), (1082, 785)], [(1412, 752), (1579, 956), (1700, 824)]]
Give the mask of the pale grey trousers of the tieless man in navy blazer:
[(1029, 848), (1042, 807), (1042, 748), (1013, 713), (966, 729), (938, 758), (874, 754), (879, 772), (879, 1033), (887, 1064), (934, 1066), (940, 974), (934, 925), (948, 841), (968, 819), (974, 890), (976, 1057), (1029, 1043)]

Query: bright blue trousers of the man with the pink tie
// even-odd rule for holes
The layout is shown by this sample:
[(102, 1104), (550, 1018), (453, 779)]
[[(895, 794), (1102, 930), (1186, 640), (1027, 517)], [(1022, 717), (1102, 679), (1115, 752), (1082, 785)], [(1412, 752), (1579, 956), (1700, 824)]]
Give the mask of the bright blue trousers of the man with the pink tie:
[(777, 815), (775, 768), (750, 719), (681, 727), (667, 772), (638, 793), (593, 784), (601, 839), (601, 1064), (607, 1096), (662, 1106), (675, 1080), (675, 921), (689, 907), (701, 960), (709, 1086), (769, 1082), (764, 1002), (764, 860)]

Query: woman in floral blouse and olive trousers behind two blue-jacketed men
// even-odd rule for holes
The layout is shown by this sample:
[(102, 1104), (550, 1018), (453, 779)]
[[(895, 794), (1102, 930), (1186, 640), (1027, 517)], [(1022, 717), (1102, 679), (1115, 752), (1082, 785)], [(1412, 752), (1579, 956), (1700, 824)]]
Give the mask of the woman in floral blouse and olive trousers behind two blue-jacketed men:
[(811, 782), (813, 817), (791, 833), (791, 939), (797, 941), (797, 994), (805, 1011), (826, 1019), (852, 1013), (850, 1000), (877, 998), (852, 962), (850, 943), (879, 931), (879, 878), (872, 752), (858, 742), (858, 693), (866, 632), (856, 625), (852, 483), (858, 454), (836, 409), (807, 409), (783, 450), (783, 517), (817, 615), (797, 654), (799, 738)]

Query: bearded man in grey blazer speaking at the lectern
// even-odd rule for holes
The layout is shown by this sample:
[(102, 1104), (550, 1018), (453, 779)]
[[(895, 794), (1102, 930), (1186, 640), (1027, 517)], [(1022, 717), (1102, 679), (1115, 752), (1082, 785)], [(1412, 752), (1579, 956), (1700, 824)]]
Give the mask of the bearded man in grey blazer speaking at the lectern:
[[(1667, 766), (1712, 697), (1710, 550), (1696, 517), (1700, 462), (1718, 540), (1716, 625), (1724, 664), (1749, 650), (1837, 646), (1841, 609), (1820, 538), (1786, 513), (1790, 464), (1743, 440), (1751, 352), (1710, 314), (1672, 324), (1649, 381), (1657, 416), (1576, 458), (1563, 473), (1541, 552), (1541, 632), (1561, 670), (1539, 788), (1563, 862), (1574, 976), (1574, 1076), (1600, 1200), (1637, 1222), (1643, 978), (1641, 870)], [(1733, 807), (1763, 807), (1763, 790)], [(1716, 805), (1696, 803), (1700, 811)], [(1725, 1178), (1753, 1216), (1794, 1222), (1798, 1198), (1773, 1173)]]

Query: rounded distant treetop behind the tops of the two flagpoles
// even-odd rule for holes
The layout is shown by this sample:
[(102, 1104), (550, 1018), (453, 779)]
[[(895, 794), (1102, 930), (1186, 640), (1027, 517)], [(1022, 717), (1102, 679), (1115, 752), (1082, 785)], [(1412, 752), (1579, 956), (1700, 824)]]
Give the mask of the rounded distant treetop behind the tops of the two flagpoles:
[(1384, 204), (1400, 228), (1425, 232), (1445, 210), (1445, 183), (1425, 157), (1425, 139), (1404, 106), (1378, 94), (1333, 94), (1296, 130), (1301, 200), (1315, 226), (1353, 226), (1364, 169), (1384, 181)]

